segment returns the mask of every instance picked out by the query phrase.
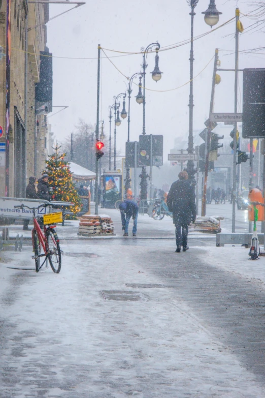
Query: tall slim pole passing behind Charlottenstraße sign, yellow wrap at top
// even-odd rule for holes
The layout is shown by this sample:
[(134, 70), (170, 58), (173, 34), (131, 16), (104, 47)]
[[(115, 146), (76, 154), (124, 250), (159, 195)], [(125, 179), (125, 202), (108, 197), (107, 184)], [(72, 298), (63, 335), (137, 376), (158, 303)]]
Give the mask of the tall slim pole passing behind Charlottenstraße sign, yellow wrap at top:
[[(235, 113), (238, 111), (238, 45), (239, 45), (239, 8), (236, 8), (236, 53), (235, 53)], [(232, 204), (232, 233), (236, 232), (236, 196), (237, 196), (237, 130), (238, 124), (234, 124), (234, 157), (233, 157), (233, 204)]]

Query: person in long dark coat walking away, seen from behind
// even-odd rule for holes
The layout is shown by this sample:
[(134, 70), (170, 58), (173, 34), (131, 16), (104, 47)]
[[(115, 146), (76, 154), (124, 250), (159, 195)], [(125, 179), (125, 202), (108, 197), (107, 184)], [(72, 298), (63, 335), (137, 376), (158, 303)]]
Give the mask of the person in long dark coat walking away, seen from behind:
[(167, 205), (173, 213), (173, 223), (176, 227), (176, 252), (179, 253), (188, 249), (188, 226), (190, 221), (196, 220), (196, 203), (194, 189), (187, 181), (188, 173), (181, 171), (179, 179), (173, 182), (168, 198)]

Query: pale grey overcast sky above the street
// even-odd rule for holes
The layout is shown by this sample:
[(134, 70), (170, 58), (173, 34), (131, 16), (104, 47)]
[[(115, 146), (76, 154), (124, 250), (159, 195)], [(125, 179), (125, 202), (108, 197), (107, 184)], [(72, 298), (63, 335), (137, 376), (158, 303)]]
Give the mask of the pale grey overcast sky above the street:
[[(218, 25), (235, 15), (236, 6), (243, 14), (255, 8), (246, 0), (216, 0), (220, 15)], [(211, 30), (201, 14), (208, 8), (209, 0), (199, 0), (194, 17), (194, 36)], [(68, 5), (50, 5), (50, 18)], [(140, 51), (141, 47), (158, 41), (161, 47), (178, 43), (190, 37), (190, 9), (185, 0), (88, 0), (86, 5), (48, 22), (48, 47), (53, 53), (53, 105), (69, 108), (49, 119), (56, 138), (62, 141), (75, 130), (79, 118), (92, 125), (96, 121), (97, 44), (119, 51)], [(243, 26), (255, 20), (241, 15)], [(217, 26), (218, 26), (217, 25)], [(253, 30), (240, 34), (240, 50), (263, 46), (264, 34)], [(221, 68), (235, 67), (235, 20), (216, 32), (194, 42), (194, 76), (200, 73), (219, 48)], [(227, 51), (228, 50), (228, 51)], [(150, 72), (154, 69), (154, 54), (148, 55), (146, 87), (169, 90), (189, 81), (190, 44), (159, 53), (159, 68), (163, 72), (159, 82), (154, 82)], [(106, 52), (108, 56), (119, 53)], [(227, 55), (228, 54), (228, 55)], [(230, 54), (230, 55), (229, 55)], [(104, 56), (104, 54), (102, 54)], [(95, 59), (64, 59), (58, 57), (88, 57)], [(111, 58), (125, 76), (141, 71), (142, 55)], [(263, 55), (240, 54), (239, 68), (264, 67)], [(213, 60), (194, 79), (193, 130), (204, 129), (209, 117), (209, 102)], [(220, 73), (222, 82), (216, 86), (215, 112), (234, 111), (234, 74)], [(126, 79), (108, 59), (102, 59), (100, 119), (105, 121), (105, 133), (109, 135), (109, 105), (113, 96), (126, 90)], [(240, 78), (242, 81), (242, 78)], [(138, 140), (142, 133), (143, 106), (135, 102), (138, 87), (133, 87), (131, 98), (131, 140)], [(242, 87), (240, 87), (242, 93)], [(239, 94), (240, 97), (240, 94)], [(164, 159), (174, 147), (175, 138), (188, 136), (189, 84), (182, 88), (155, 92), (146, 91), (146, 133), (163, 134)], [(242, 100), (239, 98), (239, 111)], [(54, 108), (54, 111), (57, 109)], [(112, 123), (113, 125), (113, 123)], [(230, 130), (229, 130), (230, 131)], [(229, 133), (227, 130), (227, 132)], [(127, 119), (117, 128), (117, 148), (125, 152)], [(183, 148), (186, 149), (186, 148)]]

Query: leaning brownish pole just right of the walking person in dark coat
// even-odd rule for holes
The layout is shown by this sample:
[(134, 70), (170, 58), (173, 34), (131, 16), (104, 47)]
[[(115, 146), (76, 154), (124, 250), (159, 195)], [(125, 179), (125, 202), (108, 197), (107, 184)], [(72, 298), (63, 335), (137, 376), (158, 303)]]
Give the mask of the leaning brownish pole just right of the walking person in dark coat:
[[(210, 112), (213, 112), (213, 103), (214, 103), (214, 88), (215, 88), (215, 75), (217, 72), (217, 62), (218, 62), (218, 48), (215, 49), (215, 57), (214, 57), (214, 71), (213, 71), (213, 80), (212, 80), (212, 91), (211, 91), (211, 101), (210, 101)], [(203, 198), (202, 198), (202, 216), (206, 216), (206, 191), (207, 191), (207, 178), (208, 178), (208, 169), (209, 169), (209, 149), (210, 149), (210, 139), (211, 139), (211, 128), (207, 128), (206, 141), (205, 141), (205, 169), (204, 169), (204, 189), (203, 189)]]

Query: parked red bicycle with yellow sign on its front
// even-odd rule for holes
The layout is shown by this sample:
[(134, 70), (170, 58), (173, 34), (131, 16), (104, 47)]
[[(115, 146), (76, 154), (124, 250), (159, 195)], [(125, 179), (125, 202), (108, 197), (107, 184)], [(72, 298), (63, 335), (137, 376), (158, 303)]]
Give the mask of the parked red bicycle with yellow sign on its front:
[[(34, 256), (32, 256), (32, 259), (35, 260), (36, 272), (39, 272), (43, 264), (48, 259), (53, 272), (59, 273), (61, 270), (62, 251), (60, 249), (59, 239), (55, 230), (56, 225), (44, 225), (44, 231), (42, 231), (36, 218), (36, 210), (38, 210), (40, 207), (46, 206), (47, 205), (45, 204), (41, 204), (38, 207), (28, 207), (24, 204), (21, 204), (20, 206), (14, 207), (21, 209), (26, 207), (30, 210), (33, 210), (34, 228), (32, 229), (31, 234)], [(42, 264), (40, 260), (41, 257), (45, 257)]]

